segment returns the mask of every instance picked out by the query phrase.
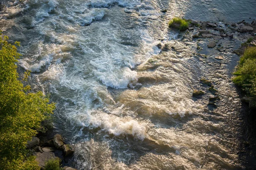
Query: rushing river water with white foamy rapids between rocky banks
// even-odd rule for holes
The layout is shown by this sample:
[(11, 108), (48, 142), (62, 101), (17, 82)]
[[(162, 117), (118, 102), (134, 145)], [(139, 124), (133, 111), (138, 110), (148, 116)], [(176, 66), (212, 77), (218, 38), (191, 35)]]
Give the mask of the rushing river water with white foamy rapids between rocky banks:
[[(227, 50), (221, 65), (205, 59), (191, 35), (181, 37), (167, 23), (174, 16), (249, 20), (256, 18), (255, 3), (25, 0), (9, 2), (0, 22), (5, 34), (21, 42), (19, 65), (32, 71), (32, 86), (57, 103), (55, 131), (76, 148), (71, 166), (239, 169), (241, 103), (230, 81), (239, 57)], [(159, 42), (172, 48), (160, 53)], [(202, 77), (215, 82), (218, 108), (207, 106), (213, 95), (199, 83)], [(193, 99), (194, 89), (207, 94)]]

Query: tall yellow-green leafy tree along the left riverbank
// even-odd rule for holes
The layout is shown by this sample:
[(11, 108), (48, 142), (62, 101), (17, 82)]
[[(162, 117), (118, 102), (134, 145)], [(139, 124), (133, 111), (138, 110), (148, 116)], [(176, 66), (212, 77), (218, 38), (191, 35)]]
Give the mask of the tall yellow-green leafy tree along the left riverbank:
[[(41, 121), (53, 113), (55, 104), (39, 91), (23, 86), (15, 62), (20, 57), (15, 45), (0, 31), (0, 169), (39, 170), (35, 157), (26, 157), (26, 143), (41, 129)], [(29, 76), (24, 74), (22, 81)]]

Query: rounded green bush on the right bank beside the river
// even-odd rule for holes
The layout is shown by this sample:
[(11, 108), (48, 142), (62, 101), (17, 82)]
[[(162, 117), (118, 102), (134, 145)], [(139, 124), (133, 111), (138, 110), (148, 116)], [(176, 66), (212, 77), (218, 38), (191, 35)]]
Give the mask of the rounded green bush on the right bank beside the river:
[(233, 82), (250, 96), (256, 96), (256, 47), (248, 47), (240, 62)]

